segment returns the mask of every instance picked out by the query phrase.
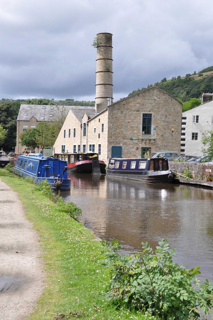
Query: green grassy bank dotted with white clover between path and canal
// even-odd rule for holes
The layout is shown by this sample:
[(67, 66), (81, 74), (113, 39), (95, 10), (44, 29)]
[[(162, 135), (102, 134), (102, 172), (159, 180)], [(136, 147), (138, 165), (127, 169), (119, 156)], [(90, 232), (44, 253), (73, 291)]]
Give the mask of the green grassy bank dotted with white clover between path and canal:
[(28, 320), (53, 320), (56, 314), (69, 315), (67, 319), (151, 318), (125, 307), (116, 309), (105, 300), (103, 290), (109, 283), (109, 274), (98, 262), (102, 259), (102, 244), (93, 233), (61, 211), (33, 184), (4, 169), (0, 169), (0, 179), (18, 192), (26, 217), (40, 236), (46, 287)]

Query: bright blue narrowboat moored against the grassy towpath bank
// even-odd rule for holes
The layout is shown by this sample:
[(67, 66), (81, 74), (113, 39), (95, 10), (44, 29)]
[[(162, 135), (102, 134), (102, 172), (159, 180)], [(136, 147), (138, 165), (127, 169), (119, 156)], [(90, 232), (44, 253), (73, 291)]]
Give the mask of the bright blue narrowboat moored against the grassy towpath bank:
[(42, 154), (17, 156), (13, 173), (20, 177), (30, 177), (35, 183), (47, 180), (53, 189), (70, 189), (71, 180), (67, 175), (67, 163)]

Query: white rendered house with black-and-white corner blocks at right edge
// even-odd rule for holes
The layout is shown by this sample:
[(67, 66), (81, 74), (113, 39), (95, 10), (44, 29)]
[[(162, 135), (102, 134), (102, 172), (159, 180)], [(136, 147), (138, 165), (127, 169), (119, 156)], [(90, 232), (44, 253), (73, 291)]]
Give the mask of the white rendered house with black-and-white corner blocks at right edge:
[(182, 113), (181, 154), (203, 156), (202, 132), (213, 130), (213, 100)]

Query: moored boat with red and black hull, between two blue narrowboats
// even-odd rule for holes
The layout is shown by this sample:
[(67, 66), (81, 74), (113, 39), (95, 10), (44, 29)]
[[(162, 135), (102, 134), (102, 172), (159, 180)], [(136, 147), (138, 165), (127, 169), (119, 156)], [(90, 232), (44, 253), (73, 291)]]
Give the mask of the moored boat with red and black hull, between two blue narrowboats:
[(88, 153), (55, 153), (55, 158), (67, 161), (67, 171), (70, 177), (72, 173), (106, 173), (106, 164), (98, 159), (95, 152)]

